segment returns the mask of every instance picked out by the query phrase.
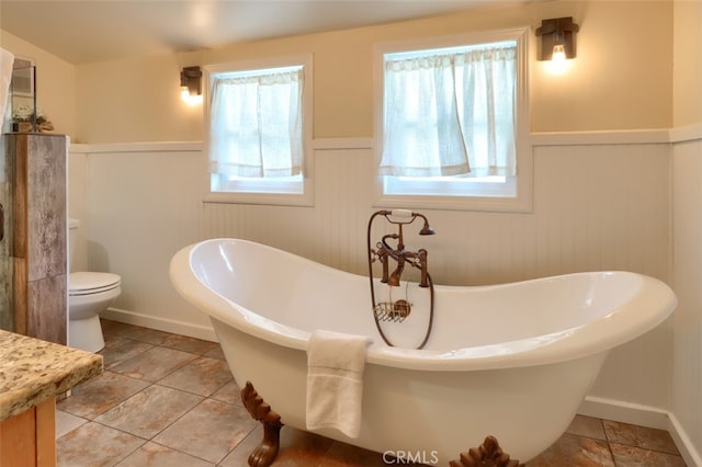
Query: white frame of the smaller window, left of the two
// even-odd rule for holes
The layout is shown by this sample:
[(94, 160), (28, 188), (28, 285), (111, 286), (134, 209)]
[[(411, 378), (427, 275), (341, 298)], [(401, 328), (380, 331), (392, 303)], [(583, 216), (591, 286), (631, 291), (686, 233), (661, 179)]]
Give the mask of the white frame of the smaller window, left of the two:
[[(218, 65), (203, 67), (203, 112), (204, 112), (204, 153), (207, 156), (205, 162), (210, 163), (210, 124), (212, 105), (212, 83), (214, 77), (219, 73), (246, 73), (264, 71), (267, 69), (302, 66), (304, 73), (303, 83), (303, 174), (302, 185), (291, 182), (287, 178), (283, 180), (274, 179), (251, 179), (231, 183), (238, 185), (237, 191), (213, 191), (212, 178), (216, 174), (210, 173), (207, 169), (207, 191), (205, 203), (236, 203), (236, 204), (263, 204), (263, 205), (288, 205), (288, 206), (313, 206), (314, 194), (314, 150), (313, 150), (313, 54), (297, 54), (279, 57), (267, 57), (248, 60), (228, 61)], [(291, 183), (295, 187), (291, 189)], [(299, 190), (302, 187), (302, 190)]]

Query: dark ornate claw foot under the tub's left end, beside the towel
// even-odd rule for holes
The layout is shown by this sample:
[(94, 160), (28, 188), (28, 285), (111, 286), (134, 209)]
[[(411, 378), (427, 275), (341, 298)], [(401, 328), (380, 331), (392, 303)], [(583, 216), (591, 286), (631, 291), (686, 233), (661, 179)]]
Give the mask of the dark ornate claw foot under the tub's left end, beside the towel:
[(251, 467), (268, 467), (273, 464), (281, 445), (281, 415), (271, 410), (271, 406), (263, 402), (263, 398), (253, 389), (251, 381), (246, 381), (241, 389), (241, 401), (253, 420), (263, 424), (263, 441), (249, 455)]

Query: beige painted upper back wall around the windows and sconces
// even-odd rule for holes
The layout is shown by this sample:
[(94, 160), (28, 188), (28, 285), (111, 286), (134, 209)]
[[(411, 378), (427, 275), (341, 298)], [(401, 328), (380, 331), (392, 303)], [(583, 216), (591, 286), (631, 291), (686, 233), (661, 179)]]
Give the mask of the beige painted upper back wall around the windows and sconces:
[(536, 61), (537, 41), (530, 35), (532, 130), (669, 127), (672, 2), (558, 1), (77, 66), (76, 136), (82, 143), (201, 140), (200, 110), (178, 98), (181, 67), (312, 52), (315, 138), (369, 137), (375, 44), (518, 26), (533, 31), (543, 19), (565, 15), (581, 27), (578, 57), (565, 75), (553, 76)]

